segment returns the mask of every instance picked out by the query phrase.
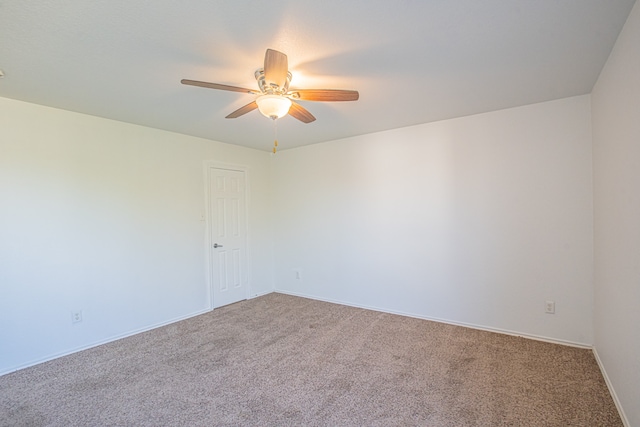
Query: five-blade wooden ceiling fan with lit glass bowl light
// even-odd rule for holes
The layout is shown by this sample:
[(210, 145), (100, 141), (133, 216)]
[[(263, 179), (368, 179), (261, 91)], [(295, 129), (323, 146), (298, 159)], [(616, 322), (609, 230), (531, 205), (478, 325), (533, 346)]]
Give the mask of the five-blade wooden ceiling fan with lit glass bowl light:
[(290, 89), (291, 73), (288, 67), (287, 55), (277, 50), (267, 49), (264, 55), (264, 67), (255, 72), (255, 78), (260, 90), (188, 79), (181, 80), (181, 83), (209, 89), (258, 95), (254, 101), (229, 114), (226, 117), (227, 119), (235, 119), (257, 108), (264, 116), (273, 120), (279, 119), (288, 113), (303, 123), (311, 123), (316, 118), (296, 101), (356, 101), (360, 96), (358, 91), (355, 90)]

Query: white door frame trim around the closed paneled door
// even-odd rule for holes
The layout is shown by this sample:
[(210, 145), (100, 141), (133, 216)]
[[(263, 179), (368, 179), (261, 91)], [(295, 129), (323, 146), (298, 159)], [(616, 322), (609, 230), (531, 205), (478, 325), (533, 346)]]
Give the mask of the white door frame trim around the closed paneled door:
[(247, 289), (246, 289), (246, 299), (249, 299), (249, 295), (251, 294), (251, 244), (250, 244), (250, 236), (249, 236), (249, 168), (243, 165), (234, 165), (230, 163), (221, 163), (213, 160), (206, 160), (204, 162), (204, 209), (205, 209), (205, 218), (206, 218), (206, 227), (205, 227), (205, 256), (206, 259), (206, 277), (209, 286), (207, 287), (209, 296), (209, 310), (213, 310), (213, 263), (211, 262), (213, 256), (213, 241), (211, 240), (211, 169), (225, 169), (232, 170), (244, 173), (244, 214), (245, 214), (245, 235), (247, 236)]

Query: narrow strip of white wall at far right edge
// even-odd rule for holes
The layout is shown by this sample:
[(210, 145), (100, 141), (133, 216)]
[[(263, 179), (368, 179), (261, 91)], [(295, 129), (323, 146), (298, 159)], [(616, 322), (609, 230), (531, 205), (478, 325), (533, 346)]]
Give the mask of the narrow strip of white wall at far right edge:
[(593, 90), (595, 349), (640, 426), (640, 4)]

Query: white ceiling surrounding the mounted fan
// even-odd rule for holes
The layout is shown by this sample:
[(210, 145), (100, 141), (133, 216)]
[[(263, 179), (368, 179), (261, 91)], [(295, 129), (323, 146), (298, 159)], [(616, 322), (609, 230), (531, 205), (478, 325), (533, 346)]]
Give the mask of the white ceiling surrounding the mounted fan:
[[(0, 96), (270, 150), (271, 121), (224, 117), (264, 52), (301, 102), (280, 148), (590, 93), (635, 0), (0, 0)], [(36, 125), (36, 124), (34, 124)]]

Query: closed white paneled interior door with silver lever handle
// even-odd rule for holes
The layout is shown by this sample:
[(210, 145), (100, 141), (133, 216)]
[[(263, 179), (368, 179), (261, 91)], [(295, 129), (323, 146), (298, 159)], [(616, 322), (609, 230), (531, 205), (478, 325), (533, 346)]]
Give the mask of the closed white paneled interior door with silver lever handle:
[(247, 222), (244, 171), (209, 169), (213, 307), (247, 299)]

